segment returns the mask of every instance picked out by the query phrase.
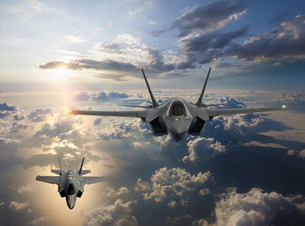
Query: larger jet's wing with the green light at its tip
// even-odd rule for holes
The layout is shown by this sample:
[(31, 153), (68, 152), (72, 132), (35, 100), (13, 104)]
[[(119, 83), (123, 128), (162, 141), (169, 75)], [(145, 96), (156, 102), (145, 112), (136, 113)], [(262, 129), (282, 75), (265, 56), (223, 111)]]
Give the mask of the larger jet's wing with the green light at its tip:
[(258, 108), (237, 108), (237, 109), (207, 109), (209, 116), (216, 115), (235, 115), (243, 113), (255, 113), (264, 111), (287, 110), (285, 106), (278, 107), (258, 107)]

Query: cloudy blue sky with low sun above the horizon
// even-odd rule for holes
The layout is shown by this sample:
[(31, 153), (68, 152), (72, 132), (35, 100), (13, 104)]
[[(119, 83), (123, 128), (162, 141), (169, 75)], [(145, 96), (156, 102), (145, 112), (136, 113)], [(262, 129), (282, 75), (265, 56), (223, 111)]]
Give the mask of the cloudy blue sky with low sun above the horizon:
[(58, 83), (141, 88), (141, 68), (156, 88), (200, 88), (196, 81), (211, 66), (210, 88), (300, 90), (304, 6), (303, 1), (2, 2), (1, 88), (52, 89)]

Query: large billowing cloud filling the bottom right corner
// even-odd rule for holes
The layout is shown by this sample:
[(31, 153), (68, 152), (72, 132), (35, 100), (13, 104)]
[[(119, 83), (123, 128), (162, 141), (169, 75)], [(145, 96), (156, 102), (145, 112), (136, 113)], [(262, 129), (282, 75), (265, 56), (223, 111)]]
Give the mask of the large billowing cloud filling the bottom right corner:
[(229, 188), (220, 197), (215, 207), (216, 221), (209, 225), (270, 225), (276, 217), (304, 211), (302, 196), (285, 197), (261, 188), (252, 188), (244, 194)]

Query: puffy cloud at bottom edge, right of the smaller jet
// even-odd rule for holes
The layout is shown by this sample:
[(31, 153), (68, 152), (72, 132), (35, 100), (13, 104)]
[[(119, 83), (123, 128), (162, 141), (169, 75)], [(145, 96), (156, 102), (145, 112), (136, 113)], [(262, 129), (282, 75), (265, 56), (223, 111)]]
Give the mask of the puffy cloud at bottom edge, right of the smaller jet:
[(130, 225), (137, 226), (138, 221), (131, 215), (131, 205), (135, 201), (124, 203), (122, 199), (117, 199), (114, 204), (102, 205), (91, 210), (85, 215), (84, 225)]

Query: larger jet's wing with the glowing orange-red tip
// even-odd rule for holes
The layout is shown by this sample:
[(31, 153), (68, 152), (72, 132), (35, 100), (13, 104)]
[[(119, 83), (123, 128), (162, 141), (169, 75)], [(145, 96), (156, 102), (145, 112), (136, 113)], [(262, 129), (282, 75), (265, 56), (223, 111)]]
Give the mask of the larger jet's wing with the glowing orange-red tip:
[(69, 115), (97, 115), (118, 117), (146, 117), (148, 111), (78, 111), (71, 110)]

